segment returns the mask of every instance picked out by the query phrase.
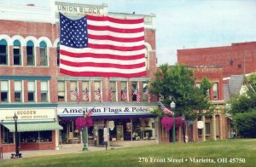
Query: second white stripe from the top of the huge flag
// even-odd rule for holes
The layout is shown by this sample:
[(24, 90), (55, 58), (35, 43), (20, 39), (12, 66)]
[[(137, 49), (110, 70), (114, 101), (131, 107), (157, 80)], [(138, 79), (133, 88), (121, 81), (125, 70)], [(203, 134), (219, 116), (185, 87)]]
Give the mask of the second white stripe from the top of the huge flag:
[(112, 37), (123, 37), (123, 38), (133, 38), (133, 37), (144, 37), (144, 32), (135, 33), (120, 33), (120, 32), (110, 32), (110, 31), (96, 31), (88, 29), (88, 34), (96, 36), (112, 36)]

